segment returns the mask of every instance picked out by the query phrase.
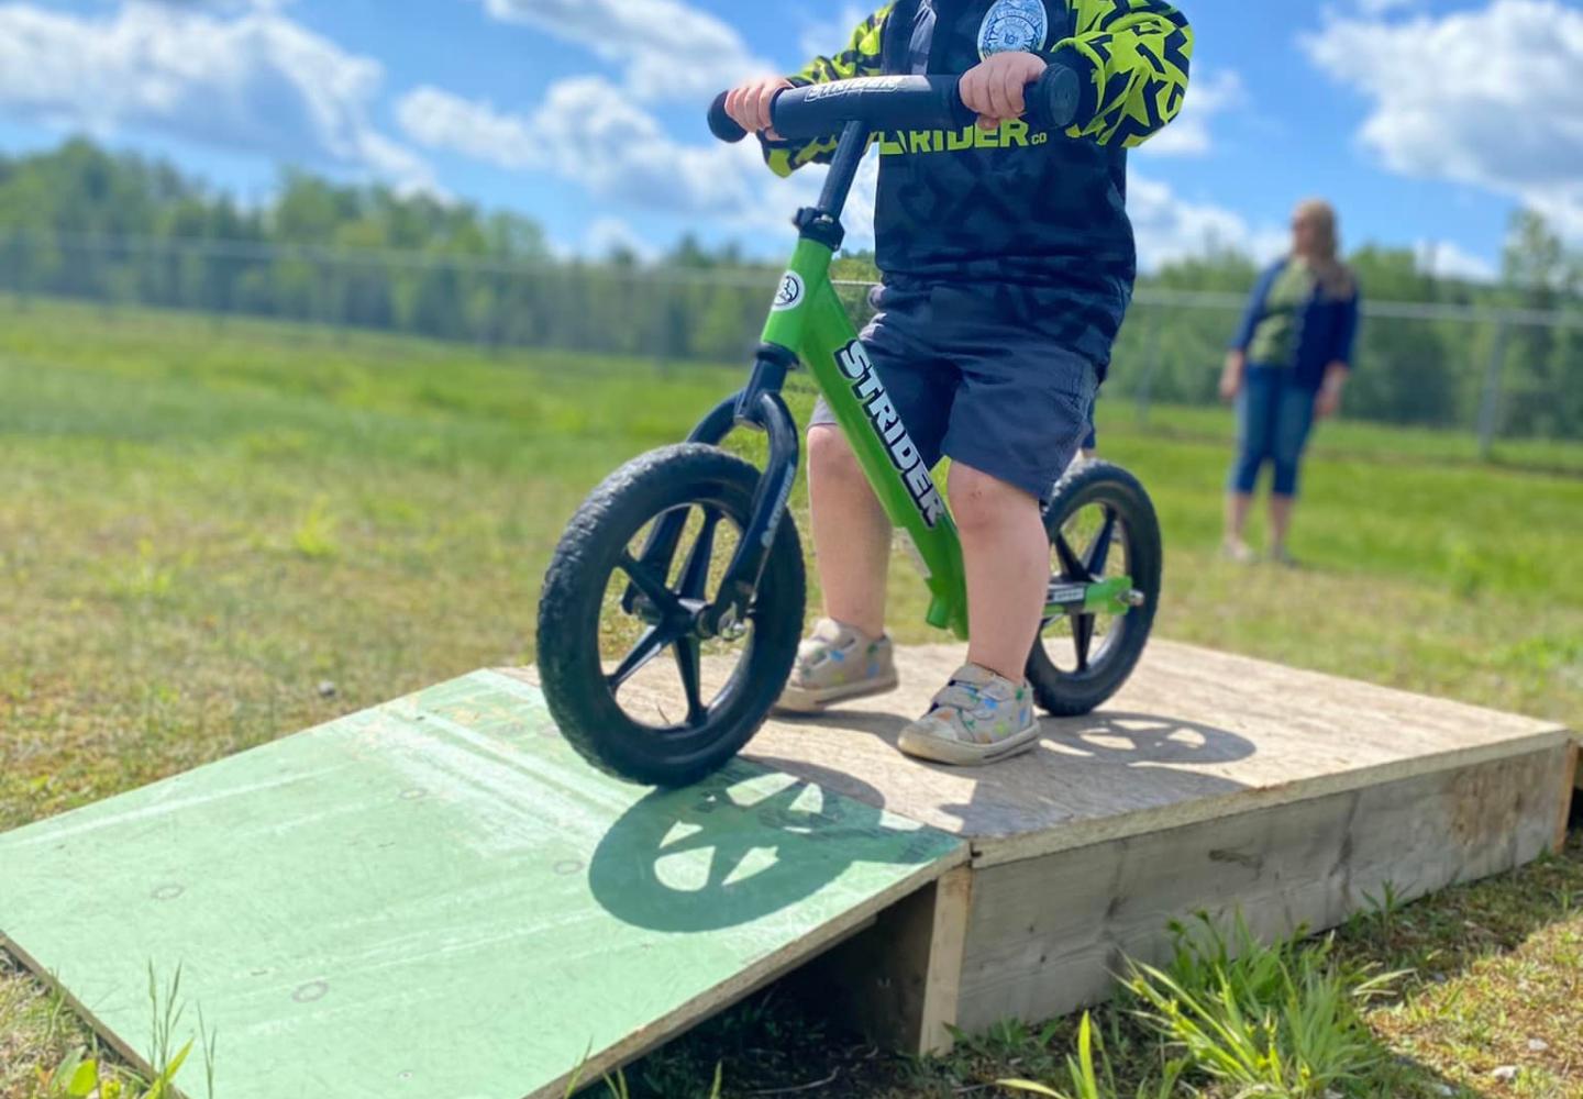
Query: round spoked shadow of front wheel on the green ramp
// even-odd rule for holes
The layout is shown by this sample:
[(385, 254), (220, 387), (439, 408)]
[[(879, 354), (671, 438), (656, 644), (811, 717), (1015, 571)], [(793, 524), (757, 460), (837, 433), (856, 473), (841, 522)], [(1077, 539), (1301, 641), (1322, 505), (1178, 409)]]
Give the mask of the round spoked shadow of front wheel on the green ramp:
[(961, 850), (955, 838), (886, 812), (866, 782), (809, 763), (790, 768), (738, 759), (697, 785), (647, 795), (595, 849), (594, 898), (635, 926), (716, 931), (810, 903), (864, 868), (921, 868)]

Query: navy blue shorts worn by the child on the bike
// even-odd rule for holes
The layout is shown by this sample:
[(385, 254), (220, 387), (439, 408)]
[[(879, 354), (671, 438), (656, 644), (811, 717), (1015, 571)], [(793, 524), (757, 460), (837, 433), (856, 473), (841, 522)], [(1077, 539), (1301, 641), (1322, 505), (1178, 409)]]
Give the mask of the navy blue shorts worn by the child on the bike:
[[(947, 456), (1048, 504), (1089, 432), (1094, 363), (996, 288), (883, 287), (874, 306), (863, 345), (929, 467)], [(836, 423), (823, 399), (812, 423)]]

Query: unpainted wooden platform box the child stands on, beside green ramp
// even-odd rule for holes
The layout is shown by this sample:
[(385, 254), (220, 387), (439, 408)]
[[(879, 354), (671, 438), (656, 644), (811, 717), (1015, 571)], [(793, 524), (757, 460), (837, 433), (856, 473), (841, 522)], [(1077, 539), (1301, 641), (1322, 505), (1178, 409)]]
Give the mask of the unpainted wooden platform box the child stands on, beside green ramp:
[(905, 651), (899, 695), (771, 722), (749, 751), (969, 842), (967, 866), (818, 971), (902, 1048), (1102, 1001), (1124, 958), (1165, 958), (1173, 918), (1317, 931), (1387, 888), (1417, 898), (1564, 841), (1577, 749), (1559, 725), (1171, 643), (1029, 755), (907, 760), (898, 732), (961, 659)]

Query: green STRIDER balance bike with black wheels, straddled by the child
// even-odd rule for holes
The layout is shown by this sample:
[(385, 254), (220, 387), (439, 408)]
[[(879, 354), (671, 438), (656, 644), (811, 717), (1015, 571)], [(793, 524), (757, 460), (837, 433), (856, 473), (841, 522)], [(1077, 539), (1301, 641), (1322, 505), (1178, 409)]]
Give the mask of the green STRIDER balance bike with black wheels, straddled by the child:
[[(1029, 86), (1029, 124), (1059, 128), (1076, 86)], [(975, 122), (956, 78), (907, 76), (788, 89), (773, 109), (788, 139), (839, 133), (818, 206), (796, 217), (792, 264), (746, 388), (687, 442), (613, 473), (571, 519), (545, 580), (540, 681), (565, 738), (594, 766), (687, 785), (725, 765), (780, 695), (803, 633), (803, 551), (787, 500), (798, 429), (782, 388), (806, 367), (929, 589), (931, 626), (967, 637), (962, 551), (931, 470), (898, 421), (829, 280), (841, 212), (875, 131)], [(746, 133), (711, 111), (722, 141)], [(768, 437), (760, 470), (720, 448), (735, 429)], [(1027, 659), (1043, 709), (1084, 714), (1127, 679), (1160, 589), (1160, 530), (1143, 486), (1108, 462), (1073, 466), (1045, 511), (1051, 576)]]

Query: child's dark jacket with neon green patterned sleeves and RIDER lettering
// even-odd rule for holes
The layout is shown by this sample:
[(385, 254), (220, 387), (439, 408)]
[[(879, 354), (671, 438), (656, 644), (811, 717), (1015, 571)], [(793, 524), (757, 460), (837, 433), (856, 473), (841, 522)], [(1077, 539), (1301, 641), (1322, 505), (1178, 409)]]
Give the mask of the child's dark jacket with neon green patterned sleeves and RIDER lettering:
[[(1002, 49), (1075, 70), (1084, 89), (1061, 133), (999, 130), (877, 136), (877, 261), (886, 282), (977, 282), (1059, 290), (1108, 359), (1132, 295), (1137, 250), (1126, 211), (1127, 149), (1181, 111), (1192, 29), (1165, 0), (898, 0), (858, 25), (847, 49), (790, 76), (966, 73)], [(787, 176), (829, 160), (834, 138), (765, 143)]]

